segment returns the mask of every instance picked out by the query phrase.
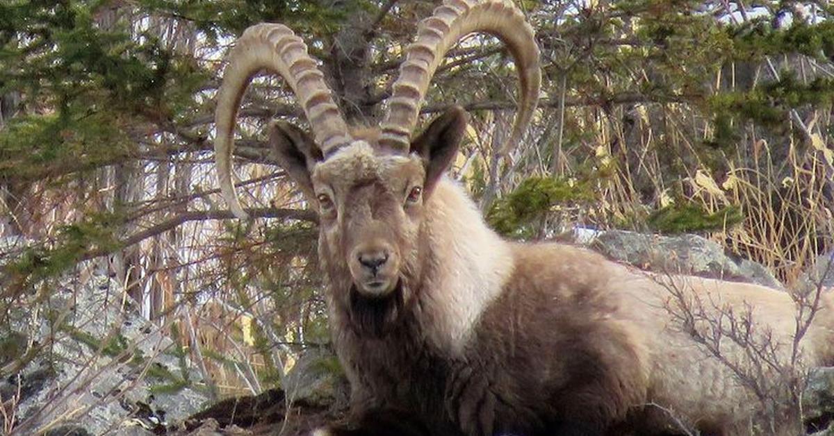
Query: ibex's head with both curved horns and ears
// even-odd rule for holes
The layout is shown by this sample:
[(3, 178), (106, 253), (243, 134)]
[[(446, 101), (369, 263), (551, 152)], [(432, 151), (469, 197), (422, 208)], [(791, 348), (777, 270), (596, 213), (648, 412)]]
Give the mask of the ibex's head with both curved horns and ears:
[(436, 8), (406, 50), (383, 122), (364, 133), (344, 123), (301, 38), (281, 24), (247, 29), (229, 55), (216, 113), (220, 187), (234, 213), (246, 217), (231, 179), (234, 121), (249, 79), (266, 68), (289, 83), (309, 121), (312, 134), (273, 123), (270, 142), (280, 164), (318, 205), (319, 255), (331, 281), (340, 275), (350, 281), (340, 284), (359, 298), (381, 299), (419, 276), (425, 207), (457, 153), (466, 114), (452, 107), (419, 136), (412, 138), (412, 132), (435, 69), (460, 38), (473, 32), (494, 34), (515, 59), (520, 112), (507, 149), (530, 122), (540, 85), (533, 30), (509, 2), (446, 0)]

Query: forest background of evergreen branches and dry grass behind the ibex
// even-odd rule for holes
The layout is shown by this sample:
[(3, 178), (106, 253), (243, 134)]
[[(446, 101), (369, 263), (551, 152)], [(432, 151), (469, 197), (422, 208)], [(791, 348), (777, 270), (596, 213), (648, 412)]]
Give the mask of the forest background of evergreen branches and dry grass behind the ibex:
[[(452, 177), (493, 228), (523, 240), (575, 228), (698, 232), (788, 288), (831, 252), (834, 6), (516, 4), (536, 30), (544, 80), (513, 163), (494, 153), (515, 109), (515, 73), (495, 38), (454, 48), (422, 109), (424, 122), (453, 103), (469, 110)], [(211, 398), (279, 386), (301, 350), (329, 341), (315, 214), (263, 135), (271, 119), (305, 121), (280, 79), (254, 81), (235, 151), (254, 219), (234, 219), (213, 168), (224, 54), (249, 25), (285, 23), (321, 61), (345, 118), (373, 125), (435, 6), (0, 3), (0, 337), (13, 337), (21, 312), (48, 318), (54, 335), (78, 334), (51, 308), (54, 289), (106, 271), (203, 373)], [(118, 331), (88, 340), (102, 353), (127, 347)], [(48, 348), (24, 341), (3, 373)]]

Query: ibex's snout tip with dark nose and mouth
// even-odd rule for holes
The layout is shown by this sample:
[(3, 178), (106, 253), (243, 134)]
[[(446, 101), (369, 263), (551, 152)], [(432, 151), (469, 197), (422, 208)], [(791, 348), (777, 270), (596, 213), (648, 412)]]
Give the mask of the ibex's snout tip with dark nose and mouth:
[(381, 298), (393, 291), (399, 281), (399, 257), (388, 243), (361, 243), (353, 250), (350, 273), (359, 293)]

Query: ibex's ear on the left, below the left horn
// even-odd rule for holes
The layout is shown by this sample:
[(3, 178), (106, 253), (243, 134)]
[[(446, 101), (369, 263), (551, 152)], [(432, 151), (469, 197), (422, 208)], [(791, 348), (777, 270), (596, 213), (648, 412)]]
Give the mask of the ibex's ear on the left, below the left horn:
[(279, 164), (293, 178), (310, 201), (315, 199), (310, 173), (322, 160), (322, 153), (313, 138), (284, 121), (269, 123), (269, 143), (278, 155)]

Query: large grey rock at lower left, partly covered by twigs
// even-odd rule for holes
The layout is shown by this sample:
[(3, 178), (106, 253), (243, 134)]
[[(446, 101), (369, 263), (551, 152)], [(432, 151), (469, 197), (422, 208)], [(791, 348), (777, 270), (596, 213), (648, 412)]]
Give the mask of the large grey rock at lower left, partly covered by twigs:
[[(10, 352), (18, 370), (0, 383), (4, 399), (16, 397), (22, 433), (38, 434), (57, 419), (90, 434), (147, 435), (208, 402), (200, 374), (183, 368), (176, 344), (123, 298), (106, 270), (58, 279), (46, 302), (25, 298), (10, 310), (10, 331), (20, 332), (12, 343), (27, 338), (33, 345), (23, 345), (23, 355), (38, 353), (18, 364), (22, 353)], [(3, 343), (5, 358), (17, 345)]]

